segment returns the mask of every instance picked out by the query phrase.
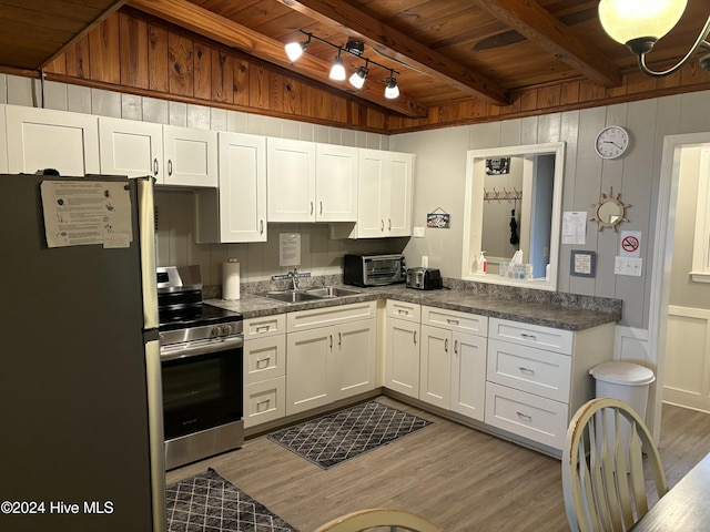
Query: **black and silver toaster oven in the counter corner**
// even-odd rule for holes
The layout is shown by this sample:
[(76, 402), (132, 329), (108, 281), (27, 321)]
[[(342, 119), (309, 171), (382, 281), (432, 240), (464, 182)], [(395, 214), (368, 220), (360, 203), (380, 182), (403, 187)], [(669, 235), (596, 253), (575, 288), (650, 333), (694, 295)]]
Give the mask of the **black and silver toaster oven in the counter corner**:
[(355, 286), (383, 286), (404, 283), (407, 266), (402, 254), (345, 255), (343, 283)]

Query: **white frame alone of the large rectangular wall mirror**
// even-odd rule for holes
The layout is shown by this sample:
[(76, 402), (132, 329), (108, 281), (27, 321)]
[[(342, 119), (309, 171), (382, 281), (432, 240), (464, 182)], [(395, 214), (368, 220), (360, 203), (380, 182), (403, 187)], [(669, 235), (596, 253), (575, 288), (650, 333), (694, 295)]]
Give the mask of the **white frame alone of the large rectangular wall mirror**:
[[(552, 190), (552, 219), (550, 226), (549, 277), (545, 279), (508, 279), (497, 274), (478, 274), (476, 257), (481, 252), (483, 205), (485, 176), (475, 175), (475, 165), (480, 160), (499, 157), (526, 157), (531, 155), (555, 155), (555, 183)], [(519, 286), (541, 290), (557, 289), (559, 266), (560, 224), (562, 208), (562, 182), (565, 175), (565, 143), (527, 144), (519, 146), (469, 150), (466, 156), (466, 196), (464, 205), (464, 242), (462, 257), (462, 279), (496, 285)], [(474, 209), (474, 206), (480, 208)]]

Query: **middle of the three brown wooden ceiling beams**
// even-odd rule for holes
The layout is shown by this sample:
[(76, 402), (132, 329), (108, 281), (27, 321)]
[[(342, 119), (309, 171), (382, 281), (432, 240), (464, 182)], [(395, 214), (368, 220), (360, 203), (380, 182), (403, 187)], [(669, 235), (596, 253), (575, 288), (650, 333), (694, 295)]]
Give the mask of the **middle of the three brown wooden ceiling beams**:
[[(496, 82), (432, 50), (419, 41), (383, 24), (344, 0), (278, 0), (284, 6), (333, 28), (343, 29), (377, 50), (392, 53), (405, 65), (455, 86), (464, 94), (495, 105), (507, 105), (509, 98)], [(384, 47), (384, 48), (383, 48)]]

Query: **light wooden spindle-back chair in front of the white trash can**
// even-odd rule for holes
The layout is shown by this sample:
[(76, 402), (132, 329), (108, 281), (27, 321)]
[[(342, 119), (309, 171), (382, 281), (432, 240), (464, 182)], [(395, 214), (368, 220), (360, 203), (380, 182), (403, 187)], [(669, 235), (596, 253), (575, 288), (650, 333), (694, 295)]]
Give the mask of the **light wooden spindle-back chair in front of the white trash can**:
[[(668, 482), (639, 415), (609, 398), (592, 399), (577, 410), (562, 451), (562, 491), (572, 531), (626, 531), (648, 512), (642, 450), (660, 499)], [(650, 479), (648, 484), (653, 485)]]

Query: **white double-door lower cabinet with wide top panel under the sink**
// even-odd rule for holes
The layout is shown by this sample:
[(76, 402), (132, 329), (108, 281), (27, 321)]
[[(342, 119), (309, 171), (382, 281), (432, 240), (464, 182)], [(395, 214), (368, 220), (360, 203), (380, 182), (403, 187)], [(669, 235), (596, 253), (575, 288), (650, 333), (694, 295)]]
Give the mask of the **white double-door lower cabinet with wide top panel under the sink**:
[(375, 305), (288, 314), (287, 416), (375, 389)]

